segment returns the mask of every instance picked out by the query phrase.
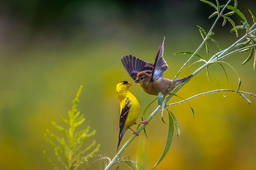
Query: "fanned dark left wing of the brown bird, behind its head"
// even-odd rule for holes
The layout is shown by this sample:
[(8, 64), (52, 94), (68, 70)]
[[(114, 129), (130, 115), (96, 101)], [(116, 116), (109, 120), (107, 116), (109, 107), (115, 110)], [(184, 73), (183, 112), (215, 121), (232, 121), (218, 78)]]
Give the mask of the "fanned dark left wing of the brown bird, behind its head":
[(137, 74), (141, 71), (151, 72), (153, 70), (153, 63), (147, 63), (144, 60), (132, 56), (131, 54), (125, 55), (121, 58), (121, 62), (124, 65), (125, 70), (132, 77), (133, 80), (136, 80)]

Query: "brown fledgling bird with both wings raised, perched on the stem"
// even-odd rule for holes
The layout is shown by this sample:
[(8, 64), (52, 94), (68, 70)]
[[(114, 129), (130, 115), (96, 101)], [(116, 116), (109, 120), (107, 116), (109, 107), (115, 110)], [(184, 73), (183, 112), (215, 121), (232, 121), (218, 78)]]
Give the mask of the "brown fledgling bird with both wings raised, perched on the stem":
[(178, 84), (184, 82), (191, 76), (175, 79), (172, 87), (169, 88), (173, 80), (163, 77), (163, 72), (168, 68), (165, 59), (163, 59), (164, 41), (165, 37), (163, 37), (163, 41), (160, 44), (154, 64), (147, 63), (144, 60), (132, 55), (125, 55), (121, 58), (125, 70), (133, 78), (133, 80), (135, 80), (134, 82), (138, 83), (145, 92), (151, 95), (158, 95), (159, 92), (162, 94), (171, 92)]

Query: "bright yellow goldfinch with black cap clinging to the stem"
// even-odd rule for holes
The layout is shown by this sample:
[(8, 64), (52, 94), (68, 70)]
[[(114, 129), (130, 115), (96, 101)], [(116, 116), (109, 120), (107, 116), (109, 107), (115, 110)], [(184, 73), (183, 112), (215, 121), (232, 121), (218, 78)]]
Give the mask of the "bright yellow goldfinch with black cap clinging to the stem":
[[(133, 96), (133, 94), (129, 92), (129, 87), (132, 85), (133, 83), (131, 82), (123, 81), (118, 83), (116, 86), (117, 97), (120, 103), (120, 131), (118, 136), (117, 151), (120, 142), (124, 136), (124, 133), (127, 131), (127, 129), (131, 129), (131, 126), (137, 123), (148, 124), (147, 120), (144, 120), (142, 122), (136, 122), (140, 112), (140, 104), (135, 96)], [(133, 134), (139, 136), (139, 131), (132, 131)]]

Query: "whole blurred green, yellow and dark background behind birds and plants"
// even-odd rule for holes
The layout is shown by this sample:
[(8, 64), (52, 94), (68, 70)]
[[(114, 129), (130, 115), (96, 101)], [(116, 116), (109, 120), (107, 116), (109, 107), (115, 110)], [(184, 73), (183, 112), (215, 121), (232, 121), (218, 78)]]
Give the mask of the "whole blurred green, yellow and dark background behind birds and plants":
[[(238, 1), (238, 9), (252, 21), (248, 8), (256, 14), (255, 0)], [(199, 0), (0, 1), (0, 169), (52, 169), (42, 156), (42, 150), (46, 150), (54, 160), (44, 133), (47, 128), (56, 133), (51, 120), (64, 125), (60, 115), (67, 117), (80, 85), (84, 86), (79, 103), (86, 118), (83, 127), (90, 125), (97, 130), (93, 138), (101, 143), (98, 154), (112, 158), (119, 131), (116, 84), (132, 81), (120, 62), (121, 56), (132, 54), (154, 62), (165, 36), (164, 58), (169, 64), (165, 76), (172, 79), (189, 57), (172, 54), (196, 50), (202, 42), (196, 25), (208, 30), (214, 22), (208, 20), (211, 12), (213, 8)], [(232, 19), (239, 24), (237, 16)], [(221, 24), (222, 19), (213, 32), (224, 49), (237, 38), (229, 33), (230, 23), (225, 27)], [(210, 53), (218, 51), (215, 44), (209, 44)], [(199, 53), (206, 54), (204, 47)], [(240, 90), (255, 94), (252, 61), (241, 65), (248, 53), (233, 55), (226, 61), (240, 75)], [(188, 74), (199, 66), (200, 63), (192, 66)], [(238, 78), (232, 69), (225, 68), (229, 89), (236, 90)], [(177, 94), (188, 98), (226, 87), (225, 74), (218, 65), (211, 65), (209, 73), (212, 84), (203, 70)], [(140, 102), (140, 114), (155, 99), (138, 85), (130, 91)], [(251, 106), (233, 93), (193, 99), (189, 103), (195, 118), (187, 104), (170, 107), (180, 123), (181, 135), (174, 136), (165, 159), (155, 169), (255, 169), (256, 100), (248, 98)], [(176, 101), (179, 99), (173, 97), (169, 102)], [(155, 107), (157, 103), (148, 114)], [(164, 117), (167, 121), (167, 113)], [(160, 114), (156, 115), (147, 126), (149, 138), (140, 133), (124, 155), (151, 169), (162, 154), (167, 127)], [(121, 145), (131, 134), (125, 134)], [(128, 167), (123, 164), (120, 169)]]

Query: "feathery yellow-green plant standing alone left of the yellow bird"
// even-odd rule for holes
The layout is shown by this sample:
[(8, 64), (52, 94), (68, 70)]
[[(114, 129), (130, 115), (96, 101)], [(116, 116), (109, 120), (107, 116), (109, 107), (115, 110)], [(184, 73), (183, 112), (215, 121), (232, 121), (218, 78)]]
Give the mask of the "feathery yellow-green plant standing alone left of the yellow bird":
[[(68, 128), (65, 129), (62, 126), (57, 125), (54, 121), (51, 122), (58, 131), (63, 133), (64, 137), (58, 137), (51, 133), (49, 129), (46, 129), (45, 140), (53, 147), (55, 157), (57, 161), (61, 163), (60, 168), (46, 155), (46, 151), (43, 151), (44, 158), (54, 170), (69, 169), (74, 163), (78, 162), (81, 157), (88, 157), (99, 150), (100, 144), (96, 145), (95, 140), (93, 140), (89, 146), (85, 145), (87, 138), (95, 135), (95, 130), (89, 133), (90, 126), (88, 126), (86, 129), (76, 131), (76, 128), (85, 121), (84, 115), (80, 114), (77, 110), (82, 88), (83, 86), (80, 86), (75, 99), (72, 101), (73, 105), (72, 109), (68, 111), (68, 119), (61, 116), (61, 119), (68, 125)], [(85, 156), (83, 156), (84, 154)], [(74, 169), (77, 169), (78, 167), (79, 166), (76, 166)]]

